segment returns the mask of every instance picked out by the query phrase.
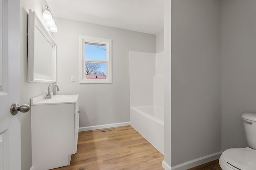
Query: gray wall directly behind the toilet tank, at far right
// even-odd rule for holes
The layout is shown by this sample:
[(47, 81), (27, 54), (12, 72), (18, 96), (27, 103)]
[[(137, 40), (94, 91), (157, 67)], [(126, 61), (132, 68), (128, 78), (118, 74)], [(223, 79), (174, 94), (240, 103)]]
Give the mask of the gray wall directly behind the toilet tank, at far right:
[(222, 150), (246, 147), (241, 115), (256, 112), (256, 1), (222, 0)]

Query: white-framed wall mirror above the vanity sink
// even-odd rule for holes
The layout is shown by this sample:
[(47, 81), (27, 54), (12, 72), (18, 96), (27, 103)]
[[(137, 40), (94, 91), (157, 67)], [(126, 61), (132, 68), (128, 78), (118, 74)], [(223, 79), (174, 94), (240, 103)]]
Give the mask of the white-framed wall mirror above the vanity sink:
[(56, 82), (56, 43), (36, 16), (28, 12), (28, 73), (27, 81)]

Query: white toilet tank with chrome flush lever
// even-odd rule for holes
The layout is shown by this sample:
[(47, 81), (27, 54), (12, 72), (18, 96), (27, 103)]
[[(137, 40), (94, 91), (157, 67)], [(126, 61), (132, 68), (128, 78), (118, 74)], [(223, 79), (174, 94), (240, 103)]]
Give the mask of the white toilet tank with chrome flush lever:
[(248, 146), (256, 150), (256, 113), (243, 113), (242, 119)]

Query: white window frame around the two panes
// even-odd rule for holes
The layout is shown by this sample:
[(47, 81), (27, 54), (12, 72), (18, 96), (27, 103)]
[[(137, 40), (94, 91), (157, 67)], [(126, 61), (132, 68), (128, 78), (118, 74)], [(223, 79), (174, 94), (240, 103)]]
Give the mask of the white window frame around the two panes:
[[(94, 43), (106, 45), (106, 60), (85, 59), (84, 44)], [(80, 83), (112, 83), (112, 40), (79, 36), (79, 79)], [(106, 63), (106, 79), (91, 79), (85, 77), (85, 62)]]

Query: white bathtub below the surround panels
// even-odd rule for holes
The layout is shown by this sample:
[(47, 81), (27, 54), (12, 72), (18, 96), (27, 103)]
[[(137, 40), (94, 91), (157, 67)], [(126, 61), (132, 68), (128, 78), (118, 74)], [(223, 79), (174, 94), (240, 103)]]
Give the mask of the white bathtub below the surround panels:
[(161, 107), (131, 107), (131, 126), (164, 154), (164, 109)]

